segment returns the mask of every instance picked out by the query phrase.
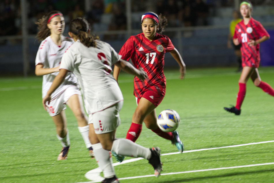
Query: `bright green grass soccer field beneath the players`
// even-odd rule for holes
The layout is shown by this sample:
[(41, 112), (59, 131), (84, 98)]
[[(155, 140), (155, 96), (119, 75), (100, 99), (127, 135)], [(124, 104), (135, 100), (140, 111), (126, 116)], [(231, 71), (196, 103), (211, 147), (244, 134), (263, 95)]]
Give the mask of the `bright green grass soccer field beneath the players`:
[[(274, 162), (274, 98), (249, 80), (241, 115), (224, 111), (223, 107), (235, 105), (239, 79), (235, 70), (187, 70), (183, 81), (178, 79), (179, 71), (166, 71), (166, 96), (157, 107), (157, 113), (167, 108), (179, 113), (178, 131), (185, 153), (161, 156), (163, 171), (159, 178), (144, 177), (153, 174), (147, 160), (119, 164), (115, 166), (119, 178), (141, 176), (120, 182), (273, 182), (274, 164), (265, 163)], [(260, 68), (259, 71), (262, 80), (274, 86), (274, 68)], [(85, 178), (85, 173), (97, 168), (97, 163), (89, 158), (69, 109), (66, 114), (71, 149), (67, 160), (57, 161), (61, 145), (55, 135), (55, 125), (42, 107), (41, 85), (42, 77), (0, 78), (0, 182), (91, 182)], [(133, 77), (121, 73), (119, 86), (124, 105), (117, 137), (125, 138), (136, 108)], [(265, 141), (272, 142), (191, 151)], [(136, 143), (145, 147), (159, 146), (162, 154), (177, 152), (170, 141), (158, 137), (145, 126)], [(133, 158), (125, 158), (130, 159)], [(113, 162), (117, 161), (113, 159)], [(239, 167), (244, 165), (254, 166)]]

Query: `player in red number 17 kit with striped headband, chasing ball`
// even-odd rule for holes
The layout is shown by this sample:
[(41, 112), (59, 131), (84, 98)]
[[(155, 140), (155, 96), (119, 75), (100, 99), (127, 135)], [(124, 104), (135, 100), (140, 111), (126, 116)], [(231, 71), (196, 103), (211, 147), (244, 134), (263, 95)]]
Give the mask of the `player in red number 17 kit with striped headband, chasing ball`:
[[(134, 77), (134, 95), (138, 106), (133, 114), (132, 124), (126, 138), (135, 142), (141, 133), (142, 122), (144, 122), (147, 128), (171, 140), (171, 143), (183, 152), (183, 143), (180, 141), (178, 132), (163, 132), (157, 126), (155, 108), (161, 103), (166, 93), (166, 77), (163, 71), (165, 53), (170, 52), (178, 62), (181, 79), (185, 74), (185, 63), (168, 36), (161, 34), (167, 25), (165, 16), (147, 12), (142, 15), (141, 23), (143, 33), (131, 36), (119, 52), (123, 60), (131, 59), (137, 69), (142, 67), (148, 75), (145, 81)], [(119, 72), (120, 69), (115, 66), (113, 76), (117, 81)]]

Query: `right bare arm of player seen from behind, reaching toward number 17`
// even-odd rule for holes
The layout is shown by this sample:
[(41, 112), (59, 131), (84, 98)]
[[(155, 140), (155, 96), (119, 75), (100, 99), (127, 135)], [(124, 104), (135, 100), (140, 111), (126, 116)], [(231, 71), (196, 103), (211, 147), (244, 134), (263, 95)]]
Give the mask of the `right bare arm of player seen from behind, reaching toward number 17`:
[[(140, 67), (139, 69), (136, 69), (132, 64), (130, 64), (129, 62), (125, 60), (121, 59), (119, 62), (115, 63), (115, 66), (117, 66), (119, 69), (122, 69), (126, 73), (136, 75), (142, 81), (147, 79), (147, 73), (144, 71), (142, 67)], [(118, 78), (118, 75), (117, 75), (117, 78)]]

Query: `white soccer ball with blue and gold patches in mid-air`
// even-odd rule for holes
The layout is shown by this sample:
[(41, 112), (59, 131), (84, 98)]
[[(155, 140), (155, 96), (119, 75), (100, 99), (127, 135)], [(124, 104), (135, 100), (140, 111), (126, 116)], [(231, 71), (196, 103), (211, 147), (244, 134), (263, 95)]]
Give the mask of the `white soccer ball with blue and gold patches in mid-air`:
[(179, 124), (180, 116), (172, 109), (163, 110), (157, 118), (157, 125), (163, 132), (173, 132)]

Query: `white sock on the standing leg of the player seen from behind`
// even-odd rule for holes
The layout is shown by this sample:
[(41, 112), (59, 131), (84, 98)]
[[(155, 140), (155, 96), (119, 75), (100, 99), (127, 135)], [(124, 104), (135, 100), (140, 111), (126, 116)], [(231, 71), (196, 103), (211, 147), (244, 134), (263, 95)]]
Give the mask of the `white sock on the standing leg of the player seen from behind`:
[(115, 175), (115, 171), (112, 166), (110, 151), (103, 149), (101, 143), (93, 144), (92, 148), (97, 164), (104, 173), (104, 178), (113, 177)]

